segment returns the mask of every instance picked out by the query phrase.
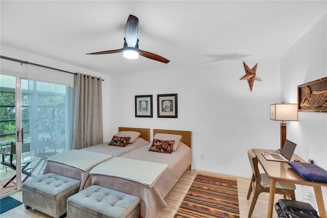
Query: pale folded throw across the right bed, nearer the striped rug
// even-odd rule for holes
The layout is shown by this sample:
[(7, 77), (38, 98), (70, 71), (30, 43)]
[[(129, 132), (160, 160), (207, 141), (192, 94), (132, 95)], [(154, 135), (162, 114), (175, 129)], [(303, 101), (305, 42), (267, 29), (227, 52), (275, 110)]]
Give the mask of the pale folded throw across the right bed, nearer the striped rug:
[(164, 163), (113, 157), (91, 169), (90, 174), (128, 179), (151, 188), (168, 166)]

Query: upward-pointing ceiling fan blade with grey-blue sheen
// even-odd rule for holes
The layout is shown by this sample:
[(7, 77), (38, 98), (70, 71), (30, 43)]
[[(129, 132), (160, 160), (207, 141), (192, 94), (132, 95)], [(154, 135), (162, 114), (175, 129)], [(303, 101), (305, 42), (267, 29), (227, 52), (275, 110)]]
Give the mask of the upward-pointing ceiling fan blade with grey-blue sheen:
[(129, 15), (125, 27), (125, 40), (128, 47), (135, 47), (137, 43), (138, 18)]

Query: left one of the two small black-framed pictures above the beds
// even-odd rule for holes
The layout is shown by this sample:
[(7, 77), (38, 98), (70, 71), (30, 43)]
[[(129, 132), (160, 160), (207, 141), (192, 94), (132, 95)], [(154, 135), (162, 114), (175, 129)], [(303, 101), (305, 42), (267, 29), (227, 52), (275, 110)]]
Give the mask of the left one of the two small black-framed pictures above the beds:
[(153, 117), (152, 94), (135, 95), (135, 117)]

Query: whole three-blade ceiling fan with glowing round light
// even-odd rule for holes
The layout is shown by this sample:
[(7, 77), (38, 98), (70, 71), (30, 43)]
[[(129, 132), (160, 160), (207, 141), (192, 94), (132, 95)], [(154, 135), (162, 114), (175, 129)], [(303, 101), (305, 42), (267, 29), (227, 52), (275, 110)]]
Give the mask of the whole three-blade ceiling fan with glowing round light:
[(122, 47), (122, 49), (87, 53), (87, 55), (104, 55), (123, 52), (125, 58), (136, 59), (138, 58), (138, 55), (141, 55), (143, 57), (167, 64), (169, 62), (167, 58), (138, 49), (137, 30), (138, 18), (134, 15), (129, 15), (125, 27), (124, 47)]

